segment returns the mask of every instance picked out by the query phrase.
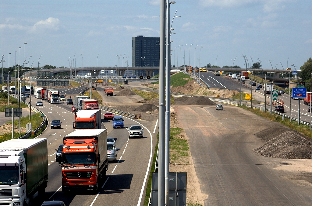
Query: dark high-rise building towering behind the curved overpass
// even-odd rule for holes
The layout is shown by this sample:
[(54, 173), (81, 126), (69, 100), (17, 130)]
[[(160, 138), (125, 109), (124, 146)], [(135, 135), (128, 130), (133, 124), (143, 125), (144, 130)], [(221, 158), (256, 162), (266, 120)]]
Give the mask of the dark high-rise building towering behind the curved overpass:
[(159, 37), (132, 37), (132, 66), (159, 67), (159, 40)]

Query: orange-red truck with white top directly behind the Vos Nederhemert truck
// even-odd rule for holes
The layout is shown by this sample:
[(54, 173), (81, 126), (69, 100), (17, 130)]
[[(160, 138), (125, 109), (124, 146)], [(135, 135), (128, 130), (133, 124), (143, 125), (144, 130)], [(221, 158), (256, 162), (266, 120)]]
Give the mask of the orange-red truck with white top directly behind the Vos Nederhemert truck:
[(101, 110), (81, 110), (76, 112), (73, 128), (101, 129)]

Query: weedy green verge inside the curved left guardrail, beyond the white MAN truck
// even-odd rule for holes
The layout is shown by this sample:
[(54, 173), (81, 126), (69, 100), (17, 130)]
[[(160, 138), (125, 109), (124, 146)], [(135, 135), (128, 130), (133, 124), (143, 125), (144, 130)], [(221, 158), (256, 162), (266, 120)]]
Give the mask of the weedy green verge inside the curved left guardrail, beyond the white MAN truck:
[[(32, 129), (36, 129), (40, 126), (40, 124), (42, 123), (43, 119), (41, 118), (41, 115), (38, 113), (35, 113), (31, 116), (31, 120), (29, 121), (29, 115), (21, 117), (21, 127), (26, 127), (27, 123), (32, 123)], [(12, 120), (7, 122), (10, 125), (10, 131), (12, 131)], [(14, 117), (14, 126), (18, 126), (18, 118)], [(44, 131), (45, 127), (42, 128), (37, 135), (32, 135), (30, 138), (34, 138), (36, 136), (38, 136), (39, 134), (41, 134)], [(27, 131), (22, 131), (22, 133), (18, 133), (14, 131), (14, 139), (20, 138), (23, 135), (26, 134)], [(11, 133), (4, 133), (4, 134), (0, 134), (0, 142), (4, 142), (7, 140), (12, 139), (12, 132)]]

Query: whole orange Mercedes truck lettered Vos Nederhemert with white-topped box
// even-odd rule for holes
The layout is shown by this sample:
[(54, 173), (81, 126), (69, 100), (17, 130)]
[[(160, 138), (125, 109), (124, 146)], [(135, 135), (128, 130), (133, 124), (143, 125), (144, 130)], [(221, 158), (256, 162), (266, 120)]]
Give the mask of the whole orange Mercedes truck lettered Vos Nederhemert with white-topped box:
[(107, 171), (107, 130), (76, 130), (63, 137), (63, 192), (98, 192)]

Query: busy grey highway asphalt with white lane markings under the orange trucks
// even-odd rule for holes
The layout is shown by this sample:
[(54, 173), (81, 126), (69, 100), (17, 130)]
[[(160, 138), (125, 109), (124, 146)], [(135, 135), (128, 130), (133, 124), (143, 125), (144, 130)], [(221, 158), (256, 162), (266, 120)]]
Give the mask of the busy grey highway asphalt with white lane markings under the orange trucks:
[[(72, 97), (73, 98), (73, 97)], [(29, 98), (26, 99), (29, 101)], [(32, 96), (32, 105), (38, 101)], [(102, 183), (99, 194), (75, 193), (64, 196), (61, 189), (61, 166), (55, 162), (55, 149), (63, 142), (63, 136), (72, 132), (72, 121), (75, 115), (71, 112), (72, 105), (66, 102), (50, 104), (43, 102), (43, 107), (37, 107), (47, 116), (49, 122), (53, 119), (60, 119), (61, 129), (51, 129), (50, 124), (38, 138), (48, 139), (48, 163), (49, 182), (46, 188), (46, 197), (43, 200), (63, 200), (66, 205), (143, 205), (145, 195), (145, 182), (150, 168), (151, 157), (156, 144), (157, 130), (153, 133), (156, 121), (135, 121), (124, 118), (124, 125), (129, 127), (134, 124), (142, 124), (144, 138), (128, 139), (127, 129), (113, 129), (111, 120), (104, 120), (105, 111), (102, 110), (102, 129), (107, 128), (108, 137), (116, 138), (117, 163), (109, 162), (107, 181)], [(119, 116), (115, 114), (115, 116)], [(104, 185), (105, 183), (105, 185)], [(143, 189), (142, 189), (143, 188)], [(140, 199), (142, 198), (142, 199)], [(42, 201), (37, 203), (40, 205)]]

